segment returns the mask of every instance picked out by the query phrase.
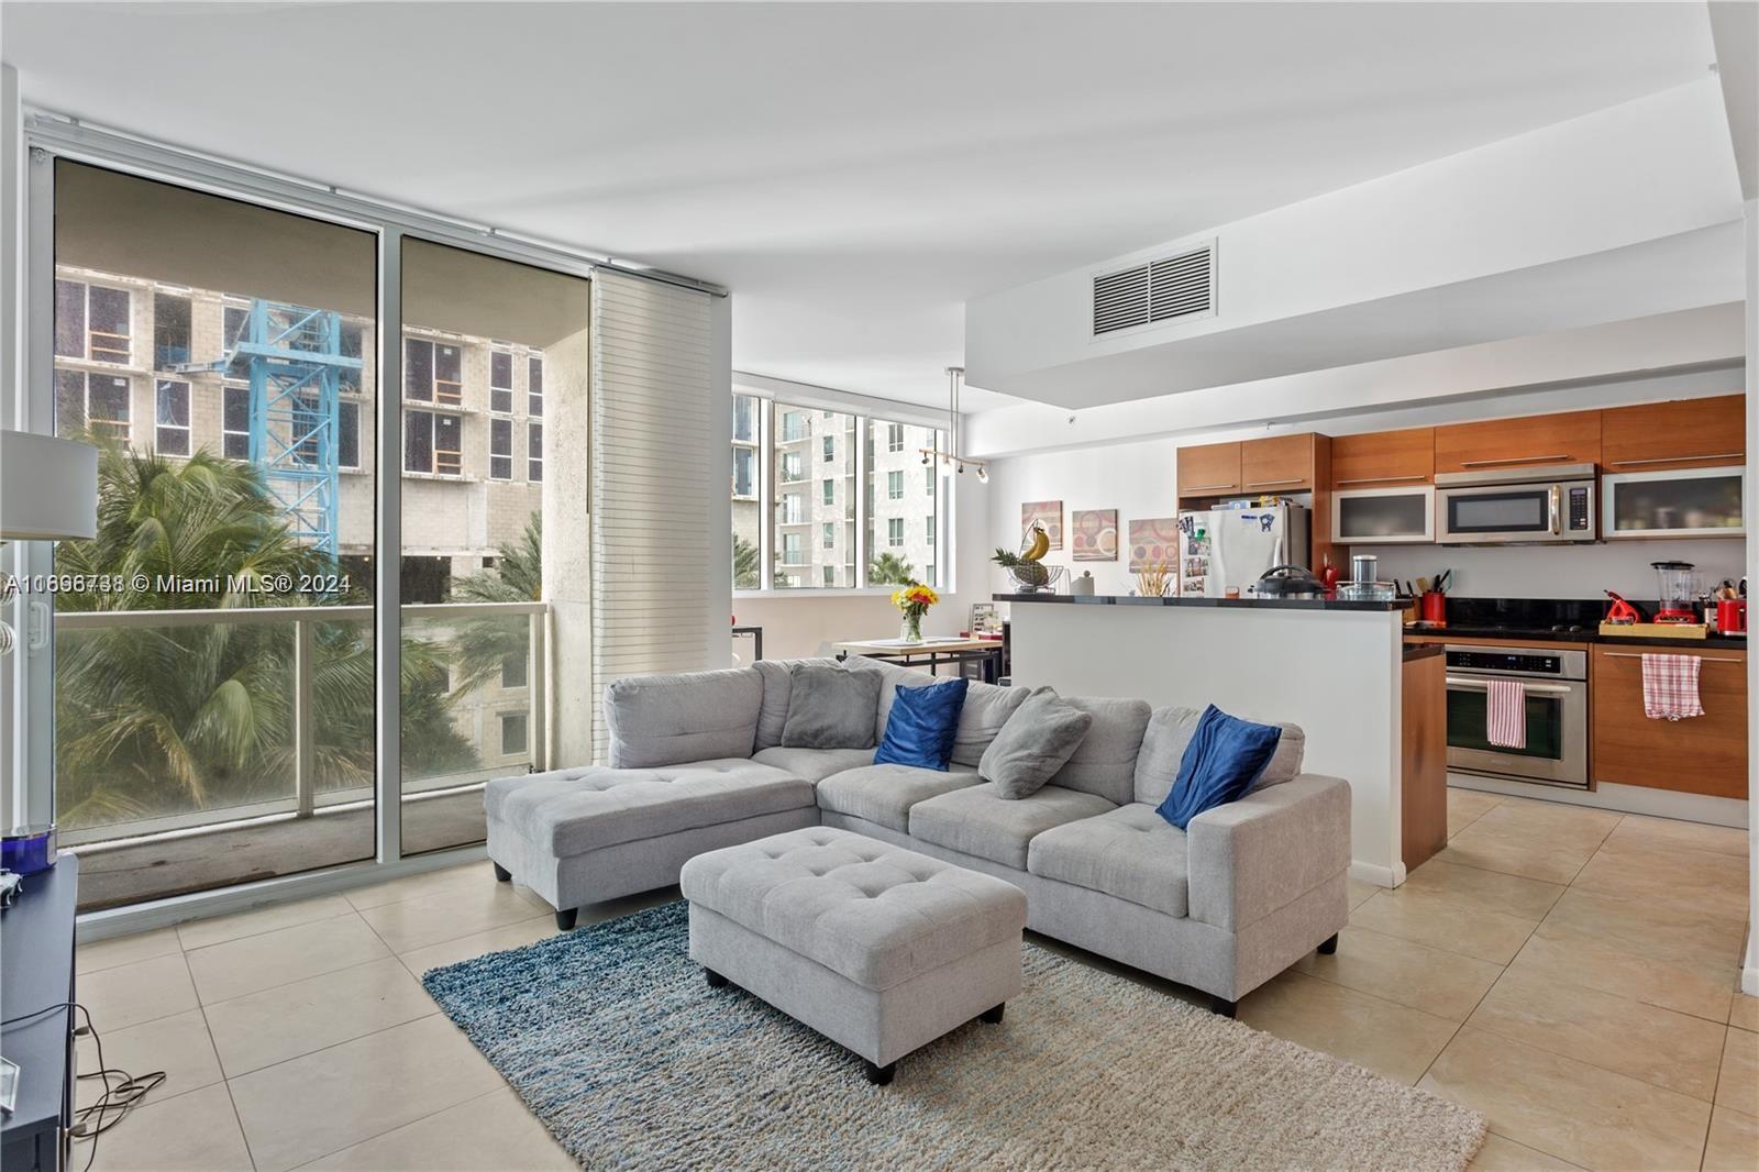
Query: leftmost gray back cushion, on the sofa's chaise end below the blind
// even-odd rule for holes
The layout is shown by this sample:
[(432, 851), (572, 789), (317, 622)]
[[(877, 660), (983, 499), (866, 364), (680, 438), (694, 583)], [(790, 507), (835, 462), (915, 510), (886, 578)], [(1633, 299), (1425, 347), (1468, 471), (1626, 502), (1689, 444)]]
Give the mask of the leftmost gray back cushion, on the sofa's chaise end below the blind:
[(763, 704), (756, 669), (628, 676), (605, 688), (610, 764), (621, 769), (751, 757)]

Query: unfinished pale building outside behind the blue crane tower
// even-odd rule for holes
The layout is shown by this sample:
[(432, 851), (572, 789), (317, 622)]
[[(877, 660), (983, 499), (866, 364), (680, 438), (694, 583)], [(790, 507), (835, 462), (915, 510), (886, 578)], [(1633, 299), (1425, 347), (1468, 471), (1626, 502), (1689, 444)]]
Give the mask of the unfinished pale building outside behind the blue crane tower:
[[(250, 458), (250, 373), (232, 354), (250, 297), (60, 266), (56, 426), (90, 426), (135, 450)], [(341, 352), (371, 355), (373, 322), (343, 317)], [(540, 509), (544, 354), (410, 327), (403, 338), (403, 575), (408, 602), (493, 567)], [(336, 417), (336, 551), (373, 553), (375, 364), (345, 370)], [(413, 591), (413, 593), (412, 593)]]

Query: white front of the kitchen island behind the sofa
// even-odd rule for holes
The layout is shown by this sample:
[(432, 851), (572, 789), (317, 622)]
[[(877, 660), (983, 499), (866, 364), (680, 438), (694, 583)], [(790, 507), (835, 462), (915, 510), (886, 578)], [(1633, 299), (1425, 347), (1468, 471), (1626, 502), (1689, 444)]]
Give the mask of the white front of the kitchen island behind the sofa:
[(1307, 773), (1351, 787), (1351, 876), (1405, 878), (1402, 602), (996, 595), (1015, 686), (1138, 697), (1307, 734)]

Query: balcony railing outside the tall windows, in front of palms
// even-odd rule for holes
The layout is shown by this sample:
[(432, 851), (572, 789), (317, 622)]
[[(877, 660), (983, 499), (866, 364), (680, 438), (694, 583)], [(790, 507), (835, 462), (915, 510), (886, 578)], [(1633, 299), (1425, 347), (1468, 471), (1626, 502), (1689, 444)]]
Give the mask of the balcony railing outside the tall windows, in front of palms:
[[(310, 818), (371, 802), (373, 614), (371, 605), (58, 614), (62, 841), (77, 846), (274, 815)], [(415, 709), (427, 718), (422, 734), (403, 744), (405, 799), (547, 765), (547, 616), (545, 602), (403, 607), (405, 723)], [(232, 656), (234, 676), (192, 688), (211, 695), (179, 693), (178, 665), (202, 656)], [(524, 674), (503, 678), (501, 663), (521, 658)], [(160, 662), (162, 690), (151, 674)], [(86, 697), (106, 695), (102, 674), (123, 670), (144, 670), (144, 690), (153, 695), (134, 697), (114, 716), (88, 714)], [(248, 713), (243, 729), (267, 741), (257, 746), (255, 769), (213, 767), (199, 778), (179, 769), (195, 741), (211, 739), (215, 720), (237, 713)], [(526, 716), (521, 753), (500, 751), (503, 714)], [(148, 727), (157, 743), (179, 751), (162, 760), (77, 760), (81, 744), (107, 744), (109, 730), (91, 727), (102, 720), (120, 722), (118, 743), (130, 729)]]

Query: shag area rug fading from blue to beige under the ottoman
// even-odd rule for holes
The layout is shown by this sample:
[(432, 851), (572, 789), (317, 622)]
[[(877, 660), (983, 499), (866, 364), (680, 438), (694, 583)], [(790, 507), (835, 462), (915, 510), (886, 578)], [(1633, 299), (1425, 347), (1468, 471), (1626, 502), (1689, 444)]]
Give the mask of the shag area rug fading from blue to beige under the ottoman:
[(1025, 993), (871, 1086), (686, 957), (682, 901), (422, 984), (586, 1167), (1465, 1168), (1483, 1116), (1025, 945)]

